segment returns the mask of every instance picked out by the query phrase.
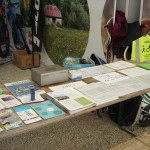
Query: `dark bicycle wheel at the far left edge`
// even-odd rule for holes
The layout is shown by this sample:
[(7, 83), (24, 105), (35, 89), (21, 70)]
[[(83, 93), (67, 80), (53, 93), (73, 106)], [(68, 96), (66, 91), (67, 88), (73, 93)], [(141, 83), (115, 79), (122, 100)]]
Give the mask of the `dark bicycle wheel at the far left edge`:
[(4, 21), (0, 24), (0, 57), (6, 58), (9, 52), (9, 32)]

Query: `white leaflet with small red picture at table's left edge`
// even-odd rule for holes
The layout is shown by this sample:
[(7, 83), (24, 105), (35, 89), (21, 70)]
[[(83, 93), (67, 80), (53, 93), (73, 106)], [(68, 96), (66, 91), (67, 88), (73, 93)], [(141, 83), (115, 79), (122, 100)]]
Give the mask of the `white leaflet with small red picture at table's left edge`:
[(0, 95), (0, 103), (4, 106), (4, 108), (11, 108), (22, 104), (14, 96), (8, 94)]

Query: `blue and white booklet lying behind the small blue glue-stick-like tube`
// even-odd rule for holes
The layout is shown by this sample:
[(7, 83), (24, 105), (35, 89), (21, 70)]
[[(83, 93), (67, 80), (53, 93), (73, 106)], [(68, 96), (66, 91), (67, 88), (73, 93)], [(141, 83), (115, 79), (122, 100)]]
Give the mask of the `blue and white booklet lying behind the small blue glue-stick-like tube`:
[(13, 83), (4, 84), (6, 88), (16, 97), (24, 96), (30, 94), (30, 89), (34, 88), (35, 91), (42, 91), (40, 87), (36, 86), (30, 80), (23, 80)]

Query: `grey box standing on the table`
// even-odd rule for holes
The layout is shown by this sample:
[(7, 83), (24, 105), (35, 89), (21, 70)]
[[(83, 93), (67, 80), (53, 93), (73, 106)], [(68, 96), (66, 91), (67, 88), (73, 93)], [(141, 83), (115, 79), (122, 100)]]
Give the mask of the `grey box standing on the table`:
[(31, 78), (40, 86), (68, 81), (68, 70), (59, 65), (31, 69)]

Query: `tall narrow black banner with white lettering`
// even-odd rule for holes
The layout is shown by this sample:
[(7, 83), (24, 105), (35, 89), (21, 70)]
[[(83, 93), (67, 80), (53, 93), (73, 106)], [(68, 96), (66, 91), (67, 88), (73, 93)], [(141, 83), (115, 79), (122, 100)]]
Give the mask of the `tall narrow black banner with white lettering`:
[(42, 0), (31, 1), (32, 48), (41, 52), (43, 38), (43, 9)]

